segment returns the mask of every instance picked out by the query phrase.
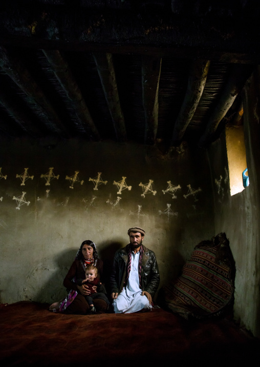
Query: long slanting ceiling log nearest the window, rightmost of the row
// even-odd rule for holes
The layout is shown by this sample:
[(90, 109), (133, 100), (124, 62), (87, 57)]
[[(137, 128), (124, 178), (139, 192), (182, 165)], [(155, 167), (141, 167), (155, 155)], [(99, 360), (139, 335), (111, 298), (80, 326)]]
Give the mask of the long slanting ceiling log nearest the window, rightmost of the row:
[(229, 75), (228, 81), (224, 87), (222, 95), (216, 104), (206, 129), (200, 138), (199, 146), (206, 147), (211, 143), (214, 133), (219, 126), (221, 120), (225, 117), (229, 108), (232, 106), (237, 94), (242, 90), (246, 80), (252, 73), (252, 67), (242, 64), (232, 65), (232, 70)]

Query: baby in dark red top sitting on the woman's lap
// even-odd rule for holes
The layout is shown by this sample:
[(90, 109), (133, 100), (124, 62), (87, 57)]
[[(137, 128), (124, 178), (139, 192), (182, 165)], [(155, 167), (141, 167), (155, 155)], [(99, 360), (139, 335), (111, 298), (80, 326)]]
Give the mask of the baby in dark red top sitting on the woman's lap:
[[(94, 299), (100, 299), (110, 305), (109, 300), (107, 299), (105, 293), (105, 287), (103, 284), (100, 283), (100, 280), (97, 278), (97, 268), (94, 265), (88, 265), (85, 268), (85, 279), (78, 279), (77, 284), (82, 285), (86, 284), (89, 287), (90, 294), (85, 295), (85, 300), (88, 302), (89, 306), (91, 307), (90, 312), (96, 312), (95, 306), (93, 304)], [(97, 292), (93, 289), (93, 286), (97, 287)], [(107, 306), (107, 307), (108, 307)]]

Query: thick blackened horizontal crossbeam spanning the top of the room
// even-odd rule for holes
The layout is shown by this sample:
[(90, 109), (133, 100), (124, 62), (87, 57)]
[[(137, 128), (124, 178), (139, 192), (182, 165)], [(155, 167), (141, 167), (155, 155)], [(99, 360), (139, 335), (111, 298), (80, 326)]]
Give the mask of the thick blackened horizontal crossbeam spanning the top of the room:
[[(11, 0), (0, 2), (2, 44), (38, 49), (153, 53), (159, 57), (200, 57), (223, 62), (260, 60), (260, 6), (253, 6), (252, 2), (233, 2), (232, 11), (229, 8), (223, 11), (221, 7), (225, 2), (218, 5), (214, 0), (214, 6), (178, 0), (172, 8), (168, 4), (156, 10), (143, 2), (143, 11), (142, 7), (134, 7), (139, 2), (117, 1), (120, 7), (111, 9), (110, 2), (105, 5), (92, 2), (89, 8), (86, 2), (77, 2), (76, 6), (67, 1), (59, 5), (41, 0), (20, 0), (14, 6), (10, 3)], [(127, 8), (129, 4), (133, 4), (131, 11)]]

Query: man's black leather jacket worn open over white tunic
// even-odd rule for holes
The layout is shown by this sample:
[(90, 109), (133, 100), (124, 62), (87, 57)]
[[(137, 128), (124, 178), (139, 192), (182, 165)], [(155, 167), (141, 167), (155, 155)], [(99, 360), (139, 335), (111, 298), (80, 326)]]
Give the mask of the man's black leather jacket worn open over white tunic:
[[(141, 284), (142, 290), (150, 293), (154, 297), (160, 283), (159, 268), (154, 251), (143, 246), (143, 257), (141, 264)], [(125, 279), (125, 269), (127, 265), (126, 246), (116, 251), (112, 274), (110, 278), (111, 293), (120, 293), (123, 289)]]

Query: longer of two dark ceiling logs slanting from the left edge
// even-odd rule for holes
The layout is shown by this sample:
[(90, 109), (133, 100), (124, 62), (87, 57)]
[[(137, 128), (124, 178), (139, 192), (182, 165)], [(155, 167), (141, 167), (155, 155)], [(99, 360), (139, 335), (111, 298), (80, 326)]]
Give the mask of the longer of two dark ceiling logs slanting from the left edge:
[[(61, 123), (56, 111), (40, 89), (28, 69), (20, 60), (11, 56), (3, 47), (0, 46), (0, 66), (13, 82), (26, 94), (30, 101), (44, 115), (42, 119), (48, 130), (58, 133), (61, 136), (69, 136), (67, 129)], [(41, 118), (41, 116), (39, 116)]]

